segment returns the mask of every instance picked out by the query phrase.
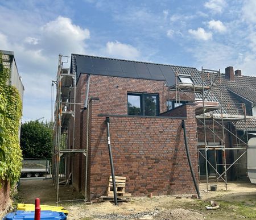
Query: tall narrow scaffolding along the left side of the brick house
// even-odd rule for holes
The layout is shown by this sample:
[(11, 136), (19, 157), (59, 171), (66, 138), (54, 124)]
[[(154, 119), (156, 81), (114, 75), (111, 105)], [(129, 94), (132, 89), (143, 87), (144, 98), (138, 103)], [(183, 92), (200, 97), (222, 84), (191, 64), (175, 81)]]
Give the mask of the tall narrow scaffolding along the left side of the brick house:
[(65, 201), (86, 201), (86, 198), (73, 198), (73, 195), (71, 200), (60, 200), (59, 194), (60, 184), (63, 184), (64, 187), (71, 186), (73, 194), (75, 155), (82, 153), (87, 157), (86, 150), (75, 148), (76, 106), (79, 106), (80, 109), (82, 104), (76, 103), (76, 74), (71, 74), (69, 68), (63, 67), (63, 64), (68, 63), (68, 58), (59, 55), (56, 81), (53, 81), (56, 85), (56, 100), (53, 124), (52, 180), (56, 190), (56, 204)]

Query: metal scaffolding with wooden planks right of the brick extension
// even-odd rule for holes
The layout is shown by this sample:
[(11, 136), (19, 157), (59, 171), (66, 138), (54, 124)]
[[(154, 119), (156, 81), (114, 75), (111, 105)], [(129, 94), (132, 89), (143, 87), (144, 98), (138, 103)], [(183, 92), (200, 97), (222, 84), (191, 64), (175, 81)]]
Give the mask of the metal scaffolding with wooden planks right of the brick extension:
[[(201, 74), (201, 76), (200, 76)], [(226, 106), (227, 108), (235, 108), (237, 114), (227, 114), (224, 109), (223, 101), (223, 85), (222, 85), (222, 75), (219, 70), (211, 69), (201, 69), (201, 72), (197, 76), (191, 76), (192, 79), (196, 79), (197, 84), (187, 84), (179, 80), (179, 72), (175, 69), (176, 84), (172, 86), (172, 90), (175, 89), (175, 98), (177, 106), (180, 105), (180, 95), (189, 97), (189, 101), (196, 102), (196, 130), (197, 130), (197, 156), (198, 156), (198, 168), (199, 168), (199, 182), (201, 182), (200, 173), (200, 157), (203, 158), (205, 167), (206, 184), (208, 191), (208, 184), (210, 180), (209, 171), (215, 173), (214, 179), (218, 181), (223, 181), (225, 183), (225, 189), (228, 187), (227, 171), (233, 165), (240, 165), (238, 163), (243, 156), (247, 153), (247, 142), (248, 142), (248, 132), (246, 123), (246, 105), (245, 103), (232, 103), (233, 106)], [(181, 76), (184, 76), (181, 74)], [(192, 93), (193, 96), (188, 95)], [(216, 97), (216, 93), (218, 98)], [(245, 123), (245, 140), (238, 137), (236, 123), (238, 121), (243, 121)], [(211, 124), (211, 126), (209, 126)], [(227, 128), (227, 124), (229, 125)], [(199, 142), (199, 127), (203, 128), (203, 142)], [(221, 128), (221, 131), (220, 129)], [(234, 132), (232, 129), (234, 128)], [(217, 134), (217, 130), (221, 134)], [(208, 136), (213, 138), (213, 142), (209, 142)], [(231, 139), (235, 139), (236, 144), (234, 146), (227, 147), (225, 143), (226, 134), (229, 134)], [(232, 141), (231, 141), (232, 143)], [(212, 160), (209, 159), (209, 151), (212, 152)], [(230, 155), (236, 152), (236, 159), (234, 158), (232, 162), (227, 163), (226, 155), (229, 151)], [(241, 152), (242, 151), (242, 152)]]

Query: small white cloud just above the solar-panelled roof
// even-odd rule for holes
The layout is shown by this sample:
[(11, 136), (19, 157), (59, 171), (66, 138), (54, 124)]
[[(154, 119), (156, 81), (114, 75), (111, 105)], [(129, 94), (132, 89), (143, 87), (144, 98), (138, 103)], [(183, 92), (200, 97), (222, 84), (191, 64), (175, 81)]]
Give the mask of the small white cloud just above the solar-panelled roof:
[(108, 56), (122, 59), (138, 59), (140, 56), (140, 52), (137, 48), (130, 44), (120, 43), (119, 41), (108, 41), (103, 52)]

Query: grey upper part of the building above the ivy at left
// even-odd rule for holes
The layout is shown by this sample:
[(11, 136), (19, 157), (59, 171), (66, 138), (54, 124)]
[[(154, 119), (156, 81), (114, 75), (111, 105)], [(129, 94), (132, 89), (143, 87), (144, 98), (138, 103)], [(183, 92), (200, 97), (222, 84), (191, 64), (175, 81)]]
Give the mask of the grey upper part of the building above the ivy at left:
[(22, 84), (22, 78), (19, 76), (18, 68), (16, 65), (16, 61), (14, 58), (13, 51), (1, 51), (2, 59), (3, 59), (3, 66), (10, 70), (10, 78), (9, 85), (15, 86), (19, 90), (20, 98), (23, 103), (23, 93), (24, 93), (24, 86)]

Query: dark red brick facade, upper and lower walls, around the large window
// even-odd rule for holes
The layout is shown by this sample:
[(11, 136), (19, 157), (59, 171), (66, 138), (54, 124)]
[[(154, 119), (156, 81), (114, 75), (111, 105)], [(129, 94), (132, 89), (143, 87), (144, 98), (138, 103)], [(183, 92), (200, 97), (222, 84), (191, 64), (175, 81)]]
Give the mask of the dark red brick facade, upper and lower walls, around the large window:
[[(86, 74), (81, 74), (77, 82), (77, 102), (85, 100), (86, 82)], [(75, 148), (86, 148), (89, 122), (88, 199), (105, 194), (111, 175), (106, 141), (107, 116), (110, 117), (115, 175), (127, 177), (126, 192), (134, 196), (149, 192), (195, 193), (181, 127), (184, 119), (192, 164), (198, 179), (195, 106), (179, 106), (160, 117), (131, 116), (127, 115), (129, 92), (159, 94), (160, 113), (166, 111), (167, 99), (175, 97), (175, 91), (168, 92), (163, 81), (90, 76), (89, 117), (87, 110), (77, 108), (75, 126)], [(76, 155), (75, 169), (74, 186), (84, 193), (84, 156)]]

